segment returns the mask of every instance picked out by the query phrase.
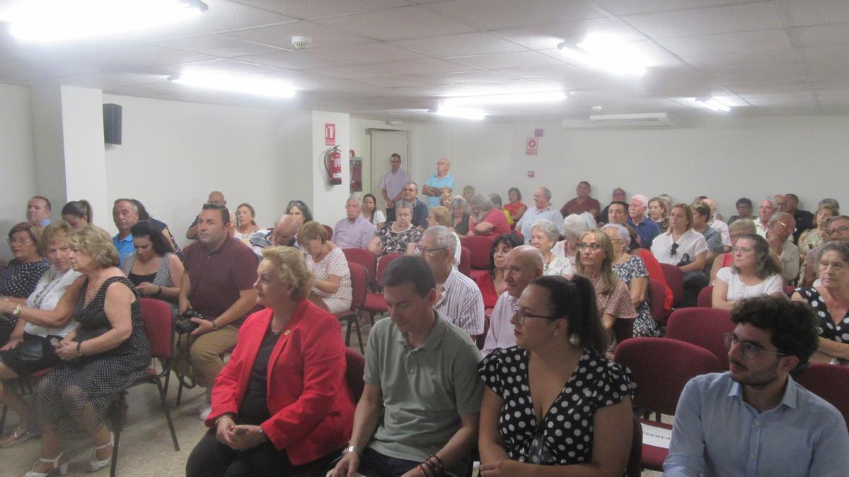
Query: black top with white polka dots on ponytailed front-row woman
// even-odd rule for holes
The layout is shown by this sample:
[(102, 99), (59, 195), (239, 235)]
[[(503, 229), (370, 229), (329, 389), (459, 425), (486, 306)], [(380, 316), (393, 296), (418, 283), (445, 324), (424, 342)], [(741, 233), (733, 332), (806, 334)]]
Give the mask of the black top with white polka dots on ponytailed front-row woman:
[(636, 384), (622, 368), (584, 351), (577, 368), (538, 424), (528, 385), (528, 352), (498, 349), (478, 365), (484, 384), (504, 400), (498, 429), (509, 457), (523, 463), (570, 465), (593, 458), (593, 416), (600, 407), (633, 396)]

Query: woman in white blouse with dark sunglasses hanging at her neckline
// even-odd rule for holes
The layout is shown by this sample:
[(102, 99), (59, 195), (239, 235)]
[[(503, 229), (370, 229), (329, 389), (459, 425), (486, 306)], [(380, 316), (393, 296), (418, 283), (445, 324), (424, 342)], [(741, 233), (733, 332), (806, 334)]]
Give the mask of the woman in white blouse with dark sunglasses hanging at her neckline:
[(657, 261), (674, 265), (684, 274), (684, 297), (681, 306), (695, 306), (701, 289), (708, 283), (704, 272), (707, 258), (705, 237), (693, 230), (693, 210), (676, 204), (669, 211), (669, 230), (651, 243)]

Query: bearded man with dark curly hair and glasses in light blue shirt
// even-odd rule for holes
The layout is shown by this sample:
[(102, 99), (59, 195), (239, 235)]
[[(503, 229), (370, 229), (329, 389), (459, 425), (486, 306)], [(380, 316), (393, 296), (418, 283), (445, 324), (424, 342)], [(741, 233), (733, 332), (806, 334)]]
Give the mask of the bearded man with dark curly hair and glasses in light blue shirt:
[(730, 370), (684, 387), (665, 477), (849, 475), (843, 416), (790, 378), (819, 346), (812, 308), (765, 295), (743, 300), (731, 321)]

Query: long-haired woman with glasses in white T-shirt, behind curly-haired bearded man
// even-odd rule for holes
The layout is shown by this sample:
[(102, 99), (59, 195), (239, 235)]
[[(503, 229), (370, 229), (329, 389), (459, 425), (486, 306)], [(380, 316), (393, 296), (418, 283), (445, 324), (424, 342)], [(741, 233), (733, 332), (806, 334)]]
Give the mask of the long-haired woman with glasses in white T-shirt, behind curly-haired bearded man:
[(769, 255), (769, 244), (763, 237), (756, 233), (743, 235), (737, 239), (731, 253), (734, 264), (721, 268), (713, 281), (714, 308), (731, 310), (737, 300), (744, 298), (784, 295), (781, 266)]

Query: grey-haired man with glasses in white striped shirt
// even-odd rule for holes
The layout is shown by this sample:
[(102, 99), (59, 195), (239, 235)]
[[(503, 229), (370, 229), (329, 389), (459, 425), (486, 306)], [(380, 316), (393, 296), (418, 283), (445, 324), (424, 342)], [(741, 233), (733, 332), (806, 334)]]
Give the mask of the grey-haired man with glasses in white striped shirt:
[(483, 297), (477, 283), (452, 266), (459, 246), (450, 229), (437, 225), (424, 231), (417, 250), (436, 278), (434, 310), (474, 339), (483, 334)]

